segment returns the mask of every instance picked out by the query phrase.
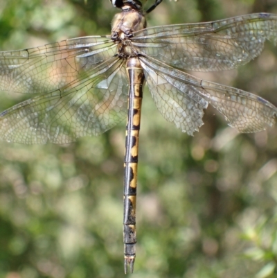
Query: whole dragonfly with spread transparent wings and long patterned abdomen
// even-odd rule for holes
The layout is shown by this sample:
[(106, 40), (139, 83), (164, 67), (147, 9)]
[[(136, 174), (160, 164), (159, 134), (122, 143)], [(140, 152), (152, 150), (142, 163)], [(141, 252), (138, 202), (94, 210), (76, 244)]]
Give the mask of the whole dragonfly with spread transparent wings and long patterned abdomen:
[(136, 257), (136, 186), (143, 87), (163, 117), (189, 135), (211, 105), (239, 132), (276, 122), (277, 108), (260, 96), (189, 75), (234, 69), (277, 42), (277, 15), (147, 28), (145, 15), (162, 0), (110, 0), (121, 12), (110, 35), (78, 37), (33, 49), (0, 52), (0, 90), (35, 94), (0, 114), (0, 139), (69, 144), (100, 135), (127, 117), (124, 160), (124, 269)]

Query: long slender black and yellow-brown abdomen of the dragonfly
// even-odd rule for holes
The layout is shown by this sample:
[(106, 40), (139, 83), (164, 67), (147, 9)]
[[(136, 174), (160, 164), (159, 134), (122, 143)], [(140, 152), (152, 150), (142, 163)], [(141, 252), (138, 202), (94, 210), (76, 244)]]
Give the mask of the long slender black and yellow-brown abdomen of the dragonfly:
[(128, 266), (133, 272), (136, 257), (136, 184), (139, 153), (139, 129), (141, 125), (141, 103), (145, 76), (139, 58), (129, 58), (126, 62), (129, 78), (128, 118), (125, 141), (125, 182), (123, 240), (125, 273)]

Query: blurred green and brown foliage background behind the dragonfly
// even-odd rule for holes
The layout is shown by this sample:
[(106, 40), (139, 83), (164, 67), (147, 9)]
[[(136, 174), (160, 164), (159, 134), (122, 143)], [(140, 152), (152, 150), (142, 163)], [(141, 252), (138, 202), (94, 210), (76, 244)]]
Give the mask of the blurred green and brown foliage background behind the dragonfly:
[[(0, 0), (0, 49), (106, 35), (116, 12), (109, 0)], [(277, 1), (163, 0), (148, 26), (251, 12)], [(277, 105), (273, 44), (240, 69), (194, 74)], [(208, 109), (188, 137), (147, 89), (142, 117), (132, 277), (277, 277), (277, 128), (238, 134)], [(125, 122), (70, 146), (0, 142), (0, 278), (125, 277), (124, 146)]]

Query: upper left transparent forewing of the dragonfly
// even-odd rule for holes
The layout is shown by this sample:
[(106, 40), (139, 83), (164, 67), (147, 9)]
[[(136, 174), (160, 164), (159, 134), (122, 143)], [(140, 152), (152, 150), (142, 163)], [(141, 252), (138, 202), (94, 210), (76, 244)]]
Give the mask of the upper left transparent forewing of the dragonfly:
[(0, 52), (0, 90), (43, 94), (78, 79), (116, 54), (109, 37), (78, 37), (33, 49)]

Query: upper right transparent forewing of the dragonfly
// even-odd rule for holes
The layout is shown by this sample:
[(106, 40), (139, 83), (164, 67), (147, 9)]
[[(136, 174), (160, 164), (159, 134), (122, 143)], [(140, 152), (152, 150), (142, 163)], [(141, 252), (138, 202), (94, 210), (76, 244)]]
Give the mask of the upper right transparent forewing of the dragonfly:
[(197, 24), (157, 26), (136, 32), (138, 53), (193, 71), (233, 69), (277, 42), (277, 15), (266, 13)]

